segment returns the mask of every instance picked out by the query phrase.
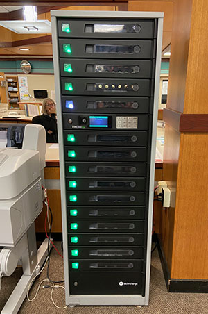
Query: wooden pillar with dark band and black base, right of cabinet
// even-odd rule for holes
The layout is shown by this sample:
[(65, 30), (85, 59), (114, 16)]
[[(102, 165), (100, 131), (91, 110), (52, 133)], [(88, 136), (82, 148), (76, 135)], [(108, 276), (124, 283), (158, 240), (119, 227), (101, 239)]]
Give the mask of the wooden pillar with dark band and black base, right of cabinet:
[(208, 292), (208, 1), (175, 0), (160, 241), (171, 292)]

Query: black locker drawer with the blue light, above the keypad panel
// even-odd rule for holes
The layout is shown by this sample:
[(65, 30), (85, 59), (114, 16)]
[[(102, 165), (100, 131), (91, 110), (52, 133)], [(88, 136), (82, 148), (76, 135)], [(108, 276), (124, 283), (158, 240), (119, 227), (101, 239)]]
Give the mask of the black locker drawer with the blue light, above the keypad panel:
[(148, 97), (62, 97), (63, 113), (152, 113), (153, 98)]

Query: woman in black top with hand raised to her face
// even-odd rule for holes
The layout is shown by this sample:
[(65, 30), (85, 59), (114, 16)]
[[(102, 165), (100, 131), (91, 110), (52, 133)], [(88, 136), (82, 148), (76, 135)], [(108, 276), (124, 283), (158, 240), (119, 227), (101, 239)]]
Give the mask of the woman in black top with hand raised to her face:
[(55, 103), (51, 98), (42, 102), (42, 115), (33, 117), (34, 124), (41, 124), (46, 129), (46, 142), (58, 143)]

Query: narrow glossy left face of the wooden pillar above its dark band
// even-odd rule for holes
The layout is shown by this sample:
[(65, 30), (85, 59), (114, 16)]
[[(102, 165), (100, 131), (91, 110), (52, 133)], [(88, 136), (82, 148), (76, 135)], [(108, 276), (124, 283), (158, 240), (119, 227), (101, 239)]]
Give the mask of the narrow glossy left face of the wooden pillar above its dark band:
[(183, 112), (191, 29), (192, 0), (175, 0), (167, 108)]

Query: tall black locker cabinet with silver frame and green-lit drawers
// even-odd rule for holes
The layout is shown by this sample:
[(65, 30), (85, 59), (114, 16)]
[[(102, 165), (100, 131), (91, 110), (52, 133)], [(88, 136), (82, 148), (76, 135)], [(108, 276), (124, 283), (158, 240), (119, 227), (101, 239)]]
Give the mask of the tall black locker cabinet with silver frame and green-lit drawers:
[(66, 304), (148, 305), (163, 13), (51, 17)]

